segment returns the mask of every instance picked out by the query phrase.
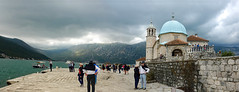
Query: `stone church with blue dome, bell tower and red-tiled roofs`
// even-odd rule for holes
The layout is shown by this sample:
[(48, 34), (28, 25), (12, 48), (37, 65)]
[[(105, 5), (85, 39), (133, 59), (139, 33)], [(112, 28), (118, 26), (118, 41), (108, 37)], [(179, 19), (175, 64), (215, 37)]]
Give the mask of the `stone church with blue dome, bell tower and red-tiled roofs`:
[(172, 20), (163, 24), (158, 37), (151, 21), (146, 36), (146, 62), (165, 62), (199, 59), (215, 56), (209, 40), (197, 34), (189, 36), (183, 24)]

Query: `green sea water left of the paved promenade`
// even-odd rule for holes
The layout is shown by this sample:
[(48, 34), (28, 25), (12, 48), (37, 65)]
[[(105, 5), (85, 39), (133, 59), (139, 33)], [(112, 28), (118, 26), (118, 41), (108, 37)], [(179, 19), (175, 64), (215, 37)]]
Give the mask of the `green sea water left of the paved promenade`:
[[(0, 59), (0, 88), (6, 86), (6, 81), (9, 79), (42, 71), (43, 69), (32, 67), (32, 65), (36, 64), (36, 62), (36, 60)], [(49, 67), (49, 62), (45, 62), (45, 65)], [(53, 61), (53, 68), (56, 66), (62, 68), (68, 67), (65, 62)]]

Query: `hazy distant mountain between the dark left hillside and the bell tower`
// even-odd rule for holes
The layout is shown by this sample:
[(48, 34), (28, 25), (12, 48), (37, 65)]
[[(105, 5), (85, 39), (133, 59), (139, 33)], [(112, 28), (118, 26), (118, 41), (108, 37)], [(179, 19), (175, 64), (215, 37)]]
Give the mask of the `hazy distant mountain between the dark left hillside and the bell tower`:
[(96, 60), (100, 63), (134, 63), (136, 59), (145, 57), (145, 42), (129, 45), (123, 43), (82, 44), (60, 50), (41, 51), (54, 60), (73, 60), (86, 62)]

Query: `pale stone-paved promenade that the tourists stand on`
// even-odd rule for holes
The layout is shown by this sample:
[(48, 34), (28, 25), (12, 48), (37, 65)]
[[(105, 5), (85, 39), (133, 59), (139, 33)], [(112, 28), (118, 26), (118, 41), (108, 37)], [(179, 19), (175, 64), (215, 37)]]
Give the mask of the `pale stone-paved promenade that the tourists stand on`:
[[(96, 92), (171, 92), (170, 87), (159, 83), (147, 84), (147, 90), (134, 90), (132, 70), (129, 75), (100, 71)], [(53, 72), (34, 73), (14, 79), (19, 82), (0, 88), (0, 92), (87, 92), (86, 80), (84, 87), (80, 87), (77, 78), (77, 72), (68, 72), (66, 68), (54, 69)]]

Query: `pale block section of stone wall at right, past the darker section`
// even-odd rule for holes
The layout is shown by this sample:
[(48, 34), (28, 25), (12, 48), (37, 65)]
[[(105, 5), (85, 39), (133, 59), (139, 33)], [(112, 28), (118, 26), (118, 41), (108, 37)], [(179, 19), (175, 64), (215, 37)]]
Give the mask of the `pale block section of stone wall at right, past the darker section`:
[(207, 92), (239, 91), (239, 57), (201, 59), (199, 81)]

